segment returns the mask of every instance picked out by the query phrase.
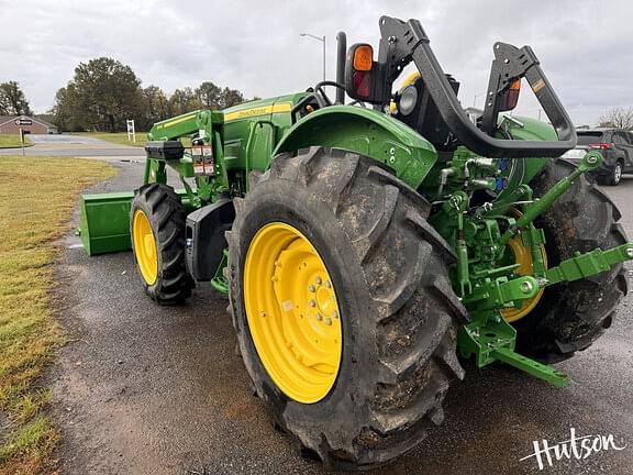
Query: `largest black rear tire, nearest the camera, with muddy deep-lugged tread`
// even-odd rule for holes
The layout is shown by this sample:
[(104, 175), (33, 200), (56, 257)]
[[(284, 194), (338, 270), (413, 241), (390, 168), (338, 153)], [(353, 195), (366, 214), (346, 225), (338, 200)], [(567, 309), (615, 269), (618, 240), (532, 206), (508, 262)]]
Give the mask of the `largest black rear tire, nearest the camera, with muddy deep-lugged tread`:
[[(312, 147), (277, 156), (235, 208), (227, 233), (233, 322), (255, 389), (278, 424), (334, 468), (380, 465), (414, 448), (429, 427), (443, 421), (448, 385), (464, 376), (456, 329), (466, 311), (448, 280), (455, 256), (426, 223), (429, 203), (367, 157)], [(343, 344), (335, 379), (311, 404), (276, 384), (280, 377), (266, 369), (275, 339), (263, 349), (248, 324), (275, 314), (299, 319), (310, 309), (269, 298), (257, 314), (248, 314), (254, 307), (245, 305), (248, 252), (265, 248), (253, 244), (262, 230), (284, 228), (296, 230), (323, 261), (340, 309)], [(266, 295), (277, 278), (275, 266), (286, 264), (265, 256), (256, 262), (270, 267), (273, 277), (257, 280)]]

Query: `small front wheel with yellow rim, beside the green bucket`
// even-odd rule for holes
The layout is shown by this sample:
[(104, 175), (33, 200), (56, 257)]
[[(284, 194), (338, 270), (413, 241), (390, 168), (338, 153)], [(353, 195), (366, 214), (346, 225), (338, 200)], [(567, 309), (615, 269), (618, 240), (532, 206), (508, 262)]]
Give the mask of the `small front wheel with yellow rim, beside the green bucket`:
[(130, 235), (147, 295), (160, 305), (181, 305), (195, 283), (185, 263), (186, 212), (167, 185), (144, 185), (134, 192)]

